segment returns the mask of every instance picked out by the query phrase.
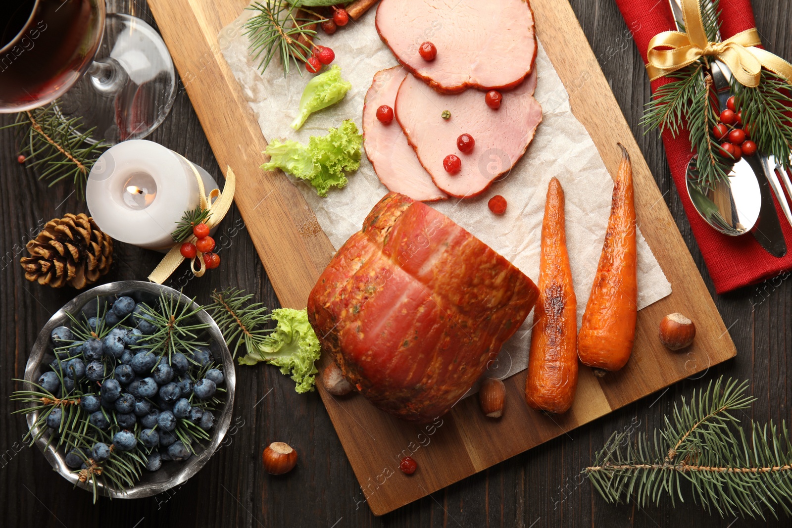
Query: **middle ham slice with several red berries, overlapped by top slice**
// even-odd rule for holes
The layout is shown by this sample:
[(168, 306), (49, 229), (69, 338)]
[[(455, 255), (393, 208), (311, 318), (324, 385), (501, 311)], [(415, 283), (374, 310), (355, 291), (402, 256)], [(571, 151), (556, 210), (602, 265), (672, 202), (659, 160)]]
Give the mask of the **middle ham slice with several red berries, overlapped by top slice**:
[[(484, 192), (525, 154), (542, 121), (542, 107), (533, 97), (535, 88), (534, 72), (515, 89), (503, 92), (501, 108), (493, 110), (478, 90), (437, 93), (408, 75), (396, 96), (396, 118), (436, 186), (451, 196), (468, 198)], [(451, 112), (451, 119), (443, 119), (444, 110)], [(456, 146), (462, 134), (472, 135), (475, 141), (474, 149), (466, 154)], [(462, 160), (459, 173), (449, 174), (443, 168), (448, 154)]]

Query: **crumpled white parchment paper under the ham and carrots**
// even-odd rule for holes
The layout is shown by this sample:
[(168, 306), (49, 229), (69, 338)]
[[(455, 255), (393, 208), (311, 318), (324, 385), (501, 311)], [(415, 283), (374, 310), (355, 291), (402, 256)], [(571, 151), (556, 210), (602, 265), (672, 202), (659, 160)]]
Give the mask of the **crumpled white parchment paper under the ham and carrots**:
[[(352, 82), (352, 89), (340, 103), (310, 116), (299, 131), (293, 131), (289, 123), (296, 116), (299, 98), (310, 75), (300, 76), (292, 70), (284, 78), (277, 59), (272, 60), (263, 76), (259, 74), (248, 54), (248, 40), (240, 30), (250, 16), (251, 12), (245, 11), (237, 21), (223, 28), (219, 42), (223, 43), (223, 56), (242, 85), (265, 138), (296, 139), (307, 143), (311, 135), (325, 135), (328, 127), (337, 127), (345, 119), (354, 120), (362, 130), (364, 97), (371, 79), (377, 71), (398, 65), (376, 32), (375, 9), (359, 21), (350, 21), (345, 28), (339, 28), (333, 36), (324, 36), (320, 42), (333, 48), (335, 63), (341, 66), (343, 77)], [(558, 177), (566, 196), (567, 246), (577, 295), (579, 326), (600, 259), (611, 208), (613, 180), (588, 132), (570, 111), (566, 89), (541, 45), (536, 68), (539, 84), (535, 97), (543, 107), (543, 122), (524, 158), (507, 177), (493, 184), (482, 196), (448, 199), (430, 205), (538, 282), (547, 184), (550, 178)], [(618, 147), (614, 145), (613, 148)], [(493, 162), (497, 159), (493, 158)], [(295, 184), (336, 249), (360, 230), (368, 211), (387, 192), (365, 154), (360, 170), (349, 176), (348, 185), (341, 190), (332, 189), (326, 198), (317, 196), (314, 189), (303, 181)], [(489, 212), (486, 203), (496, 194), (508, 200), (505, 215), (496, 216)], [(649, 306), (670, 293), (671, 284), (638, 231), (638, 308)], [(532, 315), (528, 316), (524, 325), (505, 344), (497, 361), (497, 377), (516, 374), (527, 367), (532, 319)]]

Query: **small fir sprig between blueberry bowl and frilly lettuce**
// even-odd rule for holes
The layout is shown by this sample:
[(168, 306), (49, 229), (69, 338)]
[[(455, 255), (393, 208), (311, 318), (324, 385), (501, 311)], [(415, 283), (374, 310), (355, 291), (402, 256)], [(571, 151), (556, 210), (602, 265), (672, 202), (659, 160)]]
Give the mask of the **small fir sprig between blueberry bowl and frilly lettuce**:
[(271, 329), (266, 329), (272, 315), (267, 313), (267, 307), (261, 302), (249, 303), (252, 294), (237, 288), (211, 293), (211, 304), (206, 310), (223, 332), (226, 343), (232, 348), (231, 355), (236, 358), (241, 344), (245, 344), (248, 351), (257, 350), (264, 344)]

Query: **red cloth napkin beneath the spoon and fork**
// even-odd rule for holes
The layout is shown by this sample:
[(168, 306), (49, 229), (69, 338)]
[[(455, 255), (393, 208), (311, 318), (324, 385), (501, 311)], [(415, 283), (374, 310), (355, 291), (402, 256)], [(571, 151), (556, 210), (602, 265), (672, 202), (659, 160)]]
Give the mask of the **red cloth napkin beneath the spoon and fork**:
[[(638, 51), (646, 62), (649, 40), (659, 32), (676, 29), (668, 0), (616, 0), (616, 4), (627, 27), (633, 32)], [(723, 9), (721, 36), (724, 40), (745, 29), (756, 27), (750, 0), (729, 0), (721, 2), (720, 6)], [(652, 82), (652, 91), (668, 82), (665, 78), (657, 79)], [(693, 207), (685, 187), (685, 170), (693, 156), (687, 131), (681, 132), (676, 139), (672, 138), (670, 132), (665, 131), (663, 142), (668, 166), (676, 188), (680, 191), (680, 199), (690, 221), (693, 236), (699, 242), (704, 262), (719, 294), (760, 283), (792, 269), (792, 227), (786, 222), (777, 202), (775, 208), (788, 249), (786, 256), (781, 258), (767, 253), (750, 234), (728, 237), (708, 226)]]

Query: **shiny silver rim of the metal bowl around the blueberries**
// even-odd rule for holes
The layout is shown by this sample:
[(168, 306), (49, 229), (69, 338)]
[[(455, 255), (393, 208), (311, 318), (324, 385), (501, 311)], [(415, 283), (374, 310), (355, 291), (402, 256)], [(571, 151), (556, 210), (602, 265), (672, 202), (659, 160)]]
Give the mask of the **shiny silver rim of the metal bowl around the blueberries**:
[[(68, 302), (66, 306), (58, 310), (47, 324), (44, 325), (41, 332), (39, 332), (36, 344), (33, 345), (33, 350), (28, 359), (27, 367), (25, 367), (25, 381), (35, 382), (38, 380), (40, 375), (47, 369), (49, 363), (55, 359), (50, 335), (52, 330), (56, 327), (61, 325), (68, 326), (71, 324), (67, 313), (71, 313), (75, 316), (79, 313), (86, 313), (88, 317), (92, 317), (96, 315), (97, 297), (101, 300), (106, 299), (112, 302), (116, 297), (128, 295), (134, 298), (135, 302), (152, 302), (163, 292), (175, 296), (181, 303), (190, 304), (193, 309), (199, 307), (192, 302), (192, 299), (173, 290), (173, 288), (136, 280), (103, 284), (102, 286), (95, 287), (79, 294)], [(226, 389), (226, 404), (223, 407), (221, 415), (215, 420), (215, 427), (212, 429), (213, 434), (211, 440), (209, 443), (204, 442), (203, 446), (196, 446), (196, 454), (188, 458), (185, 462), (167, 462), (162, 464), (162, 468), (155, 472), (144, 470), (143, 477), (138, 484), (136, 484), (134, 488), (129, 488), (124, 492), (108, 488), (104, 484), (97, 482), (97, 492), (100, 495), (109, 496), (114, 499), (141, 499), (183, 484), (189, 477), (192, 477), (204, 467), (204, 464), (211, 458), (211, 455), (215, 453), (215, 450), (217, 450), (217, 447), (223, 441), (223, 436), (225, 436), (228, 431), (228, 426), (231, 421), (231, 412), (234, 408), (234, 384), (236, 382), (234, 361), (231, 359), (230, 351), (226, 346), (226, 341), (223, 339), (223, 333), (220, 332), (215, 320), (212, 319), (205, 310), (200, 310), (200, 312), (196, 313), (195, 317), (202, 323), (208, 323), (208, 332), (211, 337), (211, 344), (209, 346), (211, 355), (216, 362), (222, 361), (223, 375), (225, 377), (224, 388)], [(26, 389), (33, 389), (32, 386), (25, 385)], [(27, 415), (28, 427), (32, 430), (32, 434), (36, 433), (34, 430), (36, 428), (34, 426), (38, 419), (38, 415), (38, 411), (31, 412)], [(86, 491), (93, 491), (93, 488), (88, 482), (80, 482), (77, 473), (71, 473), (71, 469), (66, 465), (64, 460), (64, 455), (55, 450), (54, 446), (48, 445), (48, 438), (49, 433), (44, 433), (44, 435), (36, 441), (36, 445), (44, 452), (44, 457), (47, 458), (53, 469), (78, 488), (83, 488)]]

